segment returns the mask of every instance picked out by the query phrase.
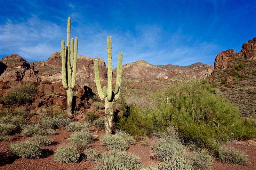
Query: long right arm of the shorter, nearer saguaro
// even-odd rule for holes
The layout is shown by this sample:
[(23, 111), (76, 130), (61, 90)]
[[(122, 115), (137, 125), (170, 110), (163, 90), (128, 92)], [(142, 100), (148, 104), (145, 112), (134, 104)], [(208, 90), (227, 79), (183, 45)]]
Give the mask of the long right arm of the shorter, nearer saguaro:
[(117, 74), (116, 74), (116, 89), (115, 89), (115, 101), (118, 100), (120, 95), (121, 88), (121, 76), (122, 76), (122, 62), (123, 62), (123, 54), (122, 52), (118, 55), (118, 65), (117, 65)]

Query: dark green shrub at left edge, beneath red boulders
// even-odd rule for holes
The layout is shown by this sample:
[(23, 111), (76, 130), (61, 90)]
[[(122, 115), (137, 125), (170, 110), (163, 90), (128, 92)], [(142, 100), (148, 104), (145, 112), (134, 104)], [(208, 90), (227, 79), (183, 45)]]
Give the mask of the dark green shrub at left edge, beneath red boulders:
[(4, 105), (25, 104), (31, 101), (32, 98), (24, 92), (8, 92), (0, 99), (0, 102)]

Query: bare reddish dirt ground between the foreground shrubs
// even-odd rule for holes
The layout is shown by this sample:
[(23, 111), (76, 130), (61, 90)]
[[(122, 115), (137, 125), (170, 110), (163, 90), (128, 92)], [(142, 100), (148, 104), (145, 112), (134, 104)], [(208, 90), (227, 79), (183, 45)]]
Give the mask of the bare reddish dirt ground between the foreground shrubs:
[[(96, 148), (100, 153), (106, 151), (106, 147), (100, 145), (99, 136), (104, 134), (104, 131), (99, 131), (95, 129), (92, 134), (96, 135), (97, 138), (94, 143), (90, 144), (92, 148)], [(62, 145), (69, 145), (67, 138), (70, 133), (64, 129), (57, 129), (56, 135), (49, 136), (53, 140), (53, 144), (50, 146), (45, 146), (44, 157), (41, 159), (22, 159), (11, 155), (8, 149), (12, 143), (26, 141), (28, 137), (16, 137), (10, 142), (2, 141), (0, 142), (0, 169), (93, 169), (97, 165), (95, 161), (87, 161), (83, 159), (81, 162), (64, 164), (60, 162), (53, 161), (54, 151)], [(149, 139), (150, 143), (153, 139)], [(256, 169), (256, 141), (237, 141), (236, 143), (228, 144), (228, 147), (233, 147), (244, 151), (251, 162), (250, 166), (240, 166), (232, 165), (227, 163), (222, 163), (220, 161), (215, 161), (213, 168), (214, 170), (233, 170), (233, 169)], [(136, 142), (135, 145), (130, 145), (127, 152), (132, 152), (135, 155), (140, 156), (141, 162), (144, 166), (149, 164), (156, 164), (157, 161), (150, 159), (150, 146), (143, 146), (140, 142)]]

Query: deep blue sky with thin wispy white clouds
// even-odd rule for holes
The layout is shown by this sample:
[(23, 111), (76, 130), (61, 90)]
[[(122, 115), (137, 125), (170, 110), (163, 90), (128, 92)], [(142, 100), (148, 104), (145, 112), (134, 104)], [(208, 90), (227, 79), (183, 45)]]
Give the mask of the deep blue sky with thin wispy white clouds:
[(112, 37), (113, 66), (144, 59), (152, 64), (213, 64), (226, 49), (239, 52), (256, 36), (255, 0), (6, 1), (0, 0), (0, 57), (16, 53), (46, 60), (71, 37), (78, 54), (107, 61)]

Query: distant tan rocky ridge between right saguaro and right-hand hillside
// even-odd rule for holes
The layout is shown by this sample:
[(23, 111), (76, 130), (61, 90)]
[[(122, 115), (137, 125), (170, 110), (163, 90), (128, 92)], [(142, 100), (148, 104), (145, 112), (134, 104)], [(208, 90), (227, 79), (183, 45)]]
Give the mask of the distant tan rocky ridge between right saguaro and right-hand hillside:
[[(153, 65), (144, 60), (124, 64), (122, 76), (125, 78), (171, 78), (182, 74), (190, 78), (207, 78), (211, 75), (213, 66), (203, 63), (194, 63), (189, 66), (179, 65)], [(116, 68), (114, 69), (116, 76)]]

